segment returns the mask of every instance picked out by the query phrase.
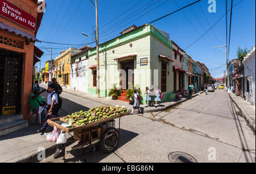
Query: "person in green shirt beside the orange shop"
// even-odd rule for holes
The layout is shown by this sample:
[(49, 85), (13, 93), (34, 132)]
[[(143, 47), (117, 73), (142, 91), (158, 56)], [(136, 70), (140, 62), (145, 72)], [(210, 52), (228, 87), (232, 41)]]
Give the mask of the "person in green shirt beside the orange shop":
[[(40, 92), (40, 89), (34, 89), (33, 93), (30, 95), (30, 109), (32, 112), (36, 113), (39, 110), (39, 106), (46, 107), (47, 103), (40, 96), (43, 92), (46, 92), (46, 89)], [(46, 108), (41, 113), (41, 120), (44, 121), (46, 119)]]

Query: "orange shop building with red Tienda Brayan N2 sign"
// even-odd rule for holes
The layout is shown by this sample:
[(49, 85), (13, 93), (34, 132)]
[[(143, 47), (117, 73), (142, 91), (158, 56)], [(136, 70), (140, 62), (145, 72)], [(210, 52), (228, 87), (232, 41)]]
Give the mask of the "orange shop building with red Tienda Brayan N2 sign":
[(0, 119), (10, 114), (30, 117), (33, 67), (43, 55), (35, 47), (44, 15), (38, 6), (37, 0), (0, 0)]

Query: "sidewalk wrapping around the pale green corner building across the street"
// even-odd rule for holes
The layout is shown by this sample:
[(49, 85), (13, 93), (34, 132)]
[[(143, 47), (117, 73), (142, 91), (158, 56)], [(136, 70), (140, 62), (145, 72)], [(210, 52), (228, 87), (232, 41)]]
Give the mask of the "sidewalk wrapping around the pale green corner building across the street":
[[(47, 84), (40, 84), (40, 86), (42, 88), (47, 88)], [(82, 98), (85, 98), (87, 100), (91, 100), (94, 102), (102, 103), (103, 105), (125, 106), (127, 109), (129, 109), (129, 111), (131, 111), (133, 109), (133, 105), (130, 105), (128, 102), (121, 101), (121, 100), (112, 100), (109, 97), (97, 98), (97, 96), (93, 95), (93, 94), (88, 94), (88, 93), (84, 93), (84, 92), (80, 92), (80, 91), (76, 91), (76, 90), (68, 90), (65, 88), (63, 88), (63, 92), (72, 94), (73, 96), (82, 97)], [(163, 102), (163, 103), (160, 103), (159, 107), (145, 107), (146, 105), (140, 105), (140, 107), (141, 107), (143, 113), (152, 113), (152, 112), (156, 112), (156, 111), (163, 111), (163, 110), (169, 109), (170, 107), (175, 106), (181, 102), (184, 102), (193, 97), (196, 97), (201, 93), (203, 93), (203, 92), (193, 94), (193, 96), (191, 96), (191, 97), (183, 97), (178, 100), (174, 100), (174, 101), (170, 101), (170, 102)]]

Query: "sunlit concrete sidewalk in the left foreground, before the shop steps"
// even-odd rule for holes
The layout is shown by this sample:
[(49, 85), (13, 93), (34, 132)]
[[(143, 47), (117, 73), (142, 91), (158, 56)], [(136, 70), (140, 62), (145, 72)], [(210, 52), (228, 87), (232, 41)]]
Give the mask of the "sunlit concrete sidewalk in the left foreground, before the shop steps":
[[(55, 153), (57, 144), (46, 141), (46, 136), (36, 132), (40, 125), (33, 124), (29, 127), (0, 137), (0, 163), (35, 163), (38, 162), (38, 151), (44, 148), (46, 157)], [(47, 129), (47, 134), (52, 130)], [(73, 138), (67, 134), (68, 141)], [(69, 142), (68, 144), (71, 144)]]

